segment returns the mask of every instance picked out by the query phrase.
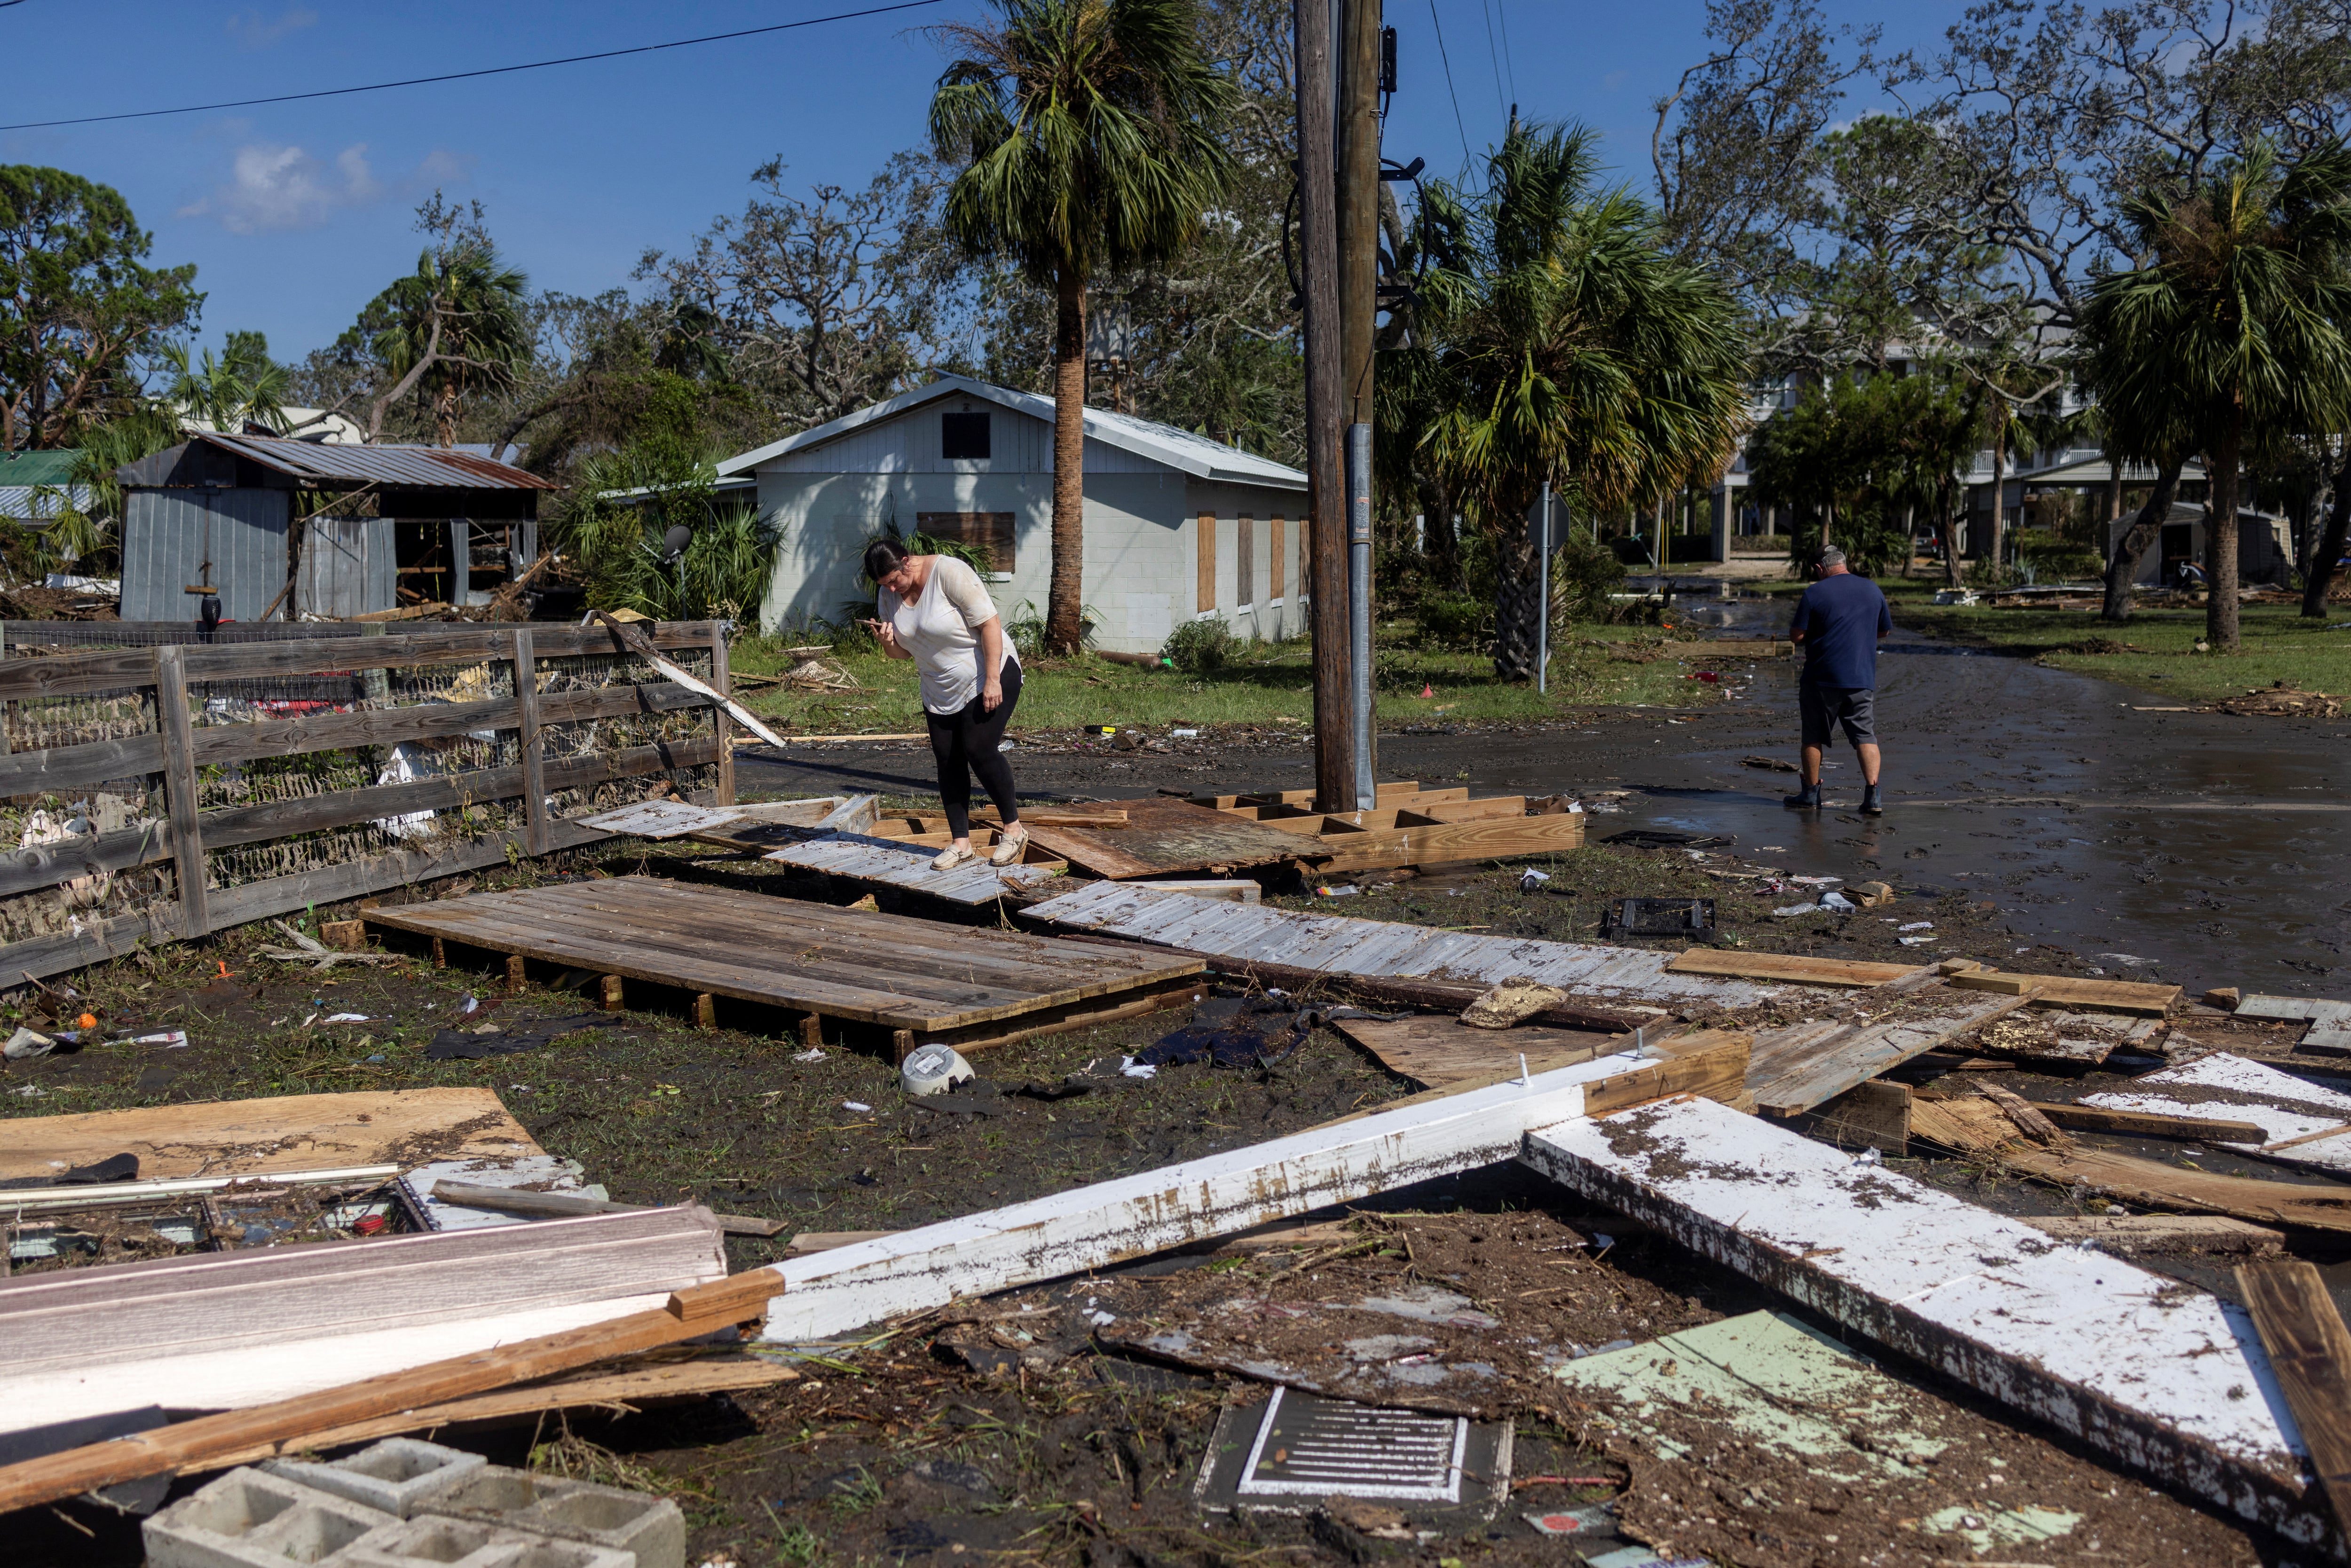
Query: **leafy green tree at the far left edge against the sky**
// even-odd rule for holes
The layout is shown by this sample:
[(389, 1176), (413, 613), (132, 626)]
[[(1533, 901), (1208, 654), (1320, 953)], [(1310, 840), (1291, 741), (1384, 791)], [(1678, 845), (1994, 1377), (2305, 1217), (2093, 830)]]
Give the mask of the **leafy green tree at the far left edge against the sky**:
[(129, 202), (63, 169), (0, 165), (0, 449), (71, 447), (136, 407), (139, 362), (195, 324), (195, 266), (146, 266)]

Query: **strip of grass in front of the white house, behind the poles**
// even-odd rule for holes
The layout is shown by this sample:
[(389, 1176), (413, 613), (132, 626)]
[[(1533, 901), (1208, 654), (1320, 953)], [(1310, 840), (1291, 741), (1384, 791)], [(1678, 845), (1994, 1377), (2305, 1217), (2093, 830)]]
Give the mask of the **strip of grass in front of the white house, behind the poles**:
[[(1378, 651), (1378, 710), (1382, 726), (1413, 722), (1526, 724), (1594, 708), (1648, 703), (1695, 708), (1721, 701), (1714, 684), (1690, 679), (1700, 665), (1674, 658), (1627, 661), (1665, 632), (1655, 628), (1578, 628), (1552, 651), (1552, 689), (1538, 696), (1531, 682), (1498, 682), (1481, 654), (1422, 651), (1408, 646), (1411, 628), (1382, 628)], [(743, 637), (729, 651), (736, 675), (781, 675), (792, 658), (771, 637)], [(806, 644), (799, 644), (806, 646)], [(792, 691), (745, 682), (738, 698), (781, 731), (799, 733), (910, 733), (922, 729), (915, 665), (851, 654), (837, 661), (858, 691)], [(1740, 665), (1726, 665), (1737, 670)], [(1013, 733), (1070, 731), (1084, 724), (1161, 729), (1173, 724), (1251, 724), (1262, 729), (1314, 724), (1312, 649), (1305, 639), (1244, 644), (1223, 670), (1199, 677), (1178, 670), (1145, 670), (1107, 658), (1032, 658), (1023, 672), (1020, 712)], [(1429, 696), (1420, 696), (1429, 691)]]

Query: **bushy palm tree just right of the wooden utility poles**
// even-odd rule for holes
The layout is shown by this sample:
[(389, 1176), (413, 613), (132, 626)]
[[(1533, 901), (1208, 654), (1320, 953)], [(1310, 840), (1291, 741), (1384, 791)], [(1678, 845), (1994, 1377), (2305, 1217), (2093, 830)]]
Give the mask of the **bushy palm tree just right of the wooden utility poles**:
[(1514, 122), (1486, 188), (1434, 186), (1411, 348), (1380, 376), (1385, 442), (1418, 444), (1495, 543), (1495, 675), (1535, 672), (1542, 484), (1578, 510), (1653, 505), (1714, 480), (1744, 430), (1747, 339), (1707, 270), (1653, 214), (1594, 193), (1594, 136)]

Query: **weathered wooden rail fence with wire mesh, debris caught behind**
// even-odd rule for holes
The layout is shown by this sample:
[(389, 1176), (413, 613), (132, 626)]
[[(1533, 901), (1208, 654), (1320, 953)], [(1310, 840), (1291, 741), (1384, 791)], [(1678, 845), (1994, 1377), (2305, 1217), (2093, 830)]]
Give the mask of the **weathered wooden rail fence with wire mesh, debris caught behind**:
[[(0, 985), (588, 844), (649, 773), (734, 804), (724, 710), (604, 628), (369, 630), (0, 661)], [(644, 630), (729, 689), (722, 623)]]

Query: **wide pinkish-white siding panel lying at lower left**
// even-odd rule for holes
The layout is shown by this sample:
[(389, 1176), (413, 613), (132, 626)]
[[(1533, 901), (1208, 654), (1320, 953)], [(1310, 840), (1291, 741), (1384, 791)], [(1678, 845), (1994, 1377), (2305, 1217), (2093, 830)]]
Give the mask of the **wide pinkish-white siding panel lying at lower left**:
[(592, 1321), (724, 1276), (698, 1206), (21, 1274), (0, 1281), (0, 1429), (270, 1403), (437, 1361), (449, 1324), (494, 1345), (491, 1319)]

